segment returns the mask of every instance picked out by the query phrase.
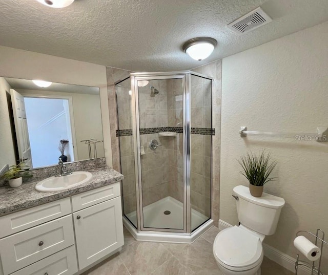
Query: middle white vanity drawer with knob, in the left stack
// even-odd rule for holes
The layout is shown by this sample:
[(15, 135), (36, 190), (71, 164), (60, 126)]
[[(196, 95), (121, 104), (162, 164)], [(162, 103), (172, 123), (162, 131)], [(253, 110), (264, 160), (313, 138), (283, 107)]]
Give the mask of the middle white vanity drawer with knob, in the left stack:
[(38, 225), (0, 240), (4, 275), (74, 244), (72, 215)]

